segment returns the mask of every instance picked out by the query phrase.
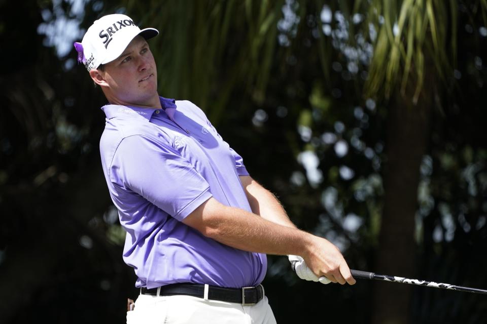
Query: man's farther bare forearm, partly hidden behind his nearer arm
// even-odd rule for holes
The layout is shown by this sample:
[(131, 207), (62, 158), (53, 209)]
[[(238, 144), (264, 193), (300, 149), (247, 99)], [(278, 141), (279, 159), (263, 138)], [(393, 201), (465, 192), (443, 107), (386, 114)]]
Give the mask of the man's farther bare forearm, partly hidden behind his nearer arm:
[(273, 223), (296, 228), (277, 198), (251, 176), (240, 176), (252, 212)]

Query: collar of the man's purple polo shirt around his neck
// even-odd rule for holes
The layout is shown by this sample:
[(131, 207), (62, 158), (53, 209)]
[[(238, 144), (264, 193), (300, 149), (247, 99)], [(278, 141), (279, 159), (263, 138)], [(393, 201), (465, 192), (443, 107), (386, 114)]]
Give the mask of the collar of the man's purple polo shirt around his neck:
[[(161, 107), (162, 110), (166, 111), (168, 114), (169, 118), (172, 119), (172, 116), (174, 115), (174, 112), (177, 108), (176, 106), (176, 100), (175, 99), (168, 99), (164, 97), (159, 97), (159, 100), (161, 102)], [(137, 106), (122, 106), (122, 105), (112, 105), (108, 104), (103, 107), (101, 107), (101, 110), (105, 112), (105, 115), (107, 116), (108, 119), (111, 119), (113, 117), (119, 117), (119, 116), (125, 116), (125, 117), (132, 117), (133, 118), (145, 118), (147, 120), (150, 120), (152, 117), (152, 114), (159, 109), (154, 109), (154, 108), (142, 108), (142, 107), (137, 107)]]

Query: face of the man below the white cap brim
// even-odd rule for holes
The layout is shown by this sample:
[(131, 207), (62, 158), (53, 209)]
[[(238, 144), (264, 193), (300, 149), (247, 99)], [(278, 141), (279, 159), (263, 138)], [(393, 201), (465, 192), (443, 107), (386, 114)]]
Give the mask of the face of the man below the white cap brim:
[(154, 57), (144, 37), (138, 35), (114, 61), (106, 64), (100, 84), (115, 104), (154, 107), (159, 102)]

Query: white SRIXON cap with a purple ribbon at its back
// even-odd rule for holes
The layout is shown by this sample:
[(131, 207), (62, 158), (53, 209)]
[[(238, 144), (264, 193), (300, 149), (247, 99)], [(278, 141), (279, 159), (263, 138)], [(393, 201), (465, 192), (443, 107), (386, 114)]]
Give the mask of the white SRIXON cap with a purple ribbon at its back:
[(154, 28), (141, 30), (128, 16), (113, 14), (95, 20), (83, 41), (74, 45), (78, 51), (78, 61), (90, 71), (119, 57), (135, 36), (149, 39), (158, 34), (159, 31)]

